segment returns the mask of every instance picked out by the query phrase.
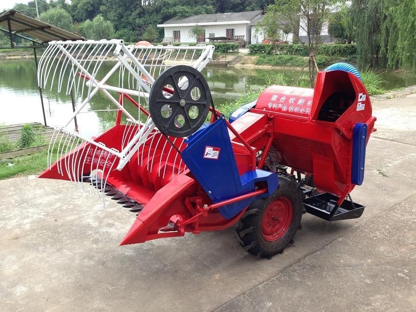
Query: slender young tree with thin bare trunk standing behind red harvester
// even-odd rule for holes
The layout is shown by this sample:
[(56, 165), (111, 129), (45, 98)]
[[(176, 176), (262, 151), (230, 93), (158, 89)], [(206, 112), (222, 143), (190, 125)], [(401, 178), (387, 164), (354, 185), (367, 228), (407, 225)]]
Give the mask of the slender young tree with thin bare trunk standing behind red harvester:
[(300, 31), (306, 34), (308, 42), (300, 41), (309, 53), (308, 67), (311, 87), (315, 85), (316, 56), (321, 44), (322, 25), (328, 21), (331, 10), (337, 9), (341, 2), (344, 1), (275, 0), (275, 4), (267, 7), (264, 19), (270, 21), (272, 27), (282, 32), (287, 31), (287, 28), (293, 29), (294, 38), (298, 40), (300, 40)]

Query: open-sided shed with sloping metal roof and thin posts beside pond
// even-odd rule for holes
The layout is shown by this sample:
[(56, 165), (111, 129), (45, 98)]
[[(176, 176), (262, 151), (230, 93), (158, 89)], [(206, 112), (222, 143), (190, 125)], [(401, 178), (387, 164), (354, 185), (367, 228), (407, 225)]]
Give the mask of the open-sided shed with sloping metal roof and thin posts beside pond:
[[(23, 15), (16, 10), (8, 10), (0, 13), (0, 31), (7, 33), (10, 46), (0, 46), (0, 49), (33, 49), (35, 54), (36, 69), (38, 69), (37, 48), (46, 47), (46, 43), (53, 40), (86, 40), (84, 37), (60, 29), (53, 25), (35, 20)], [(15, 46), (13, 37), (17, 36), (32, 43), (32, 45)], [(43, 121), (46, 126), (45, 109), (43, 105), (42, 90), (39, 88), (40, 102), (42, 104)]]

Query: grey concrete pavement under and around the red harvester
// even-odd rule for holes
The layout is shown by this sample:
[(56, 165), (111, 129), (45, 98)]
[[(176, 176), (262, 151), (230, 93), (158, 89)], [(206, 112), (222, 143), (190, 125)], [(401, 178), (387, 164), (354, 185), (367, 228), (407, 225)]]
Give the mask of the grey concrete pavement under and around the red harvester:
[(118, 246), (135, 215), (75, 183), (0, 181), (0, 311), (416, 311), (416, 94), (373, 99), (359, 219), (302, 218), (271, 260), (234, 228)]

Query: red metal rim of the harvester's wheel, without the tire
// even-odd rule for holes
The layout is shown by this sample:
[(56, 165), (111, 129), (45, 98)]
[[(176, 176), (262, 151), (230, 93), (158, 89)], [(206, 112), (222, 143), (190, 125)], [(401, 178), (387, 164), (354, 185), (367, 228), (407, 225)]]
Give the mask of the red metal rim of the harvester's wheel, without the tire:
[(281, 238), (292, 222), (293, 206), (288, 197), (279, 197), (272, 201), (261, 219), (261, 235), (269, 242)]

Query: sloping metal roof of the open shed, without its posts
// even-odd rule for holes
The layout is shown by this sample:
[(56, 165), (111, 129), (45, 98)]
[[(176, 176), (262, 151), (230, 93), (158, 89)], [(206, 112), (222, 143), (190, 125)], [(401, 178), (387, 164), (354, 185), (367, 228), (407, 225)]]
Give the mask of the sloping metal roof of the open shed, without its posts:
[(0, 13), (0, 26), (3, 29), (9, 29), (9, 22), (13, 34), (23, 33), (42, 43), (52, 40), (86, 40), (78, 34), (60, 29), (40, 20), (35, 20), (16, 10), (8, 10)]

